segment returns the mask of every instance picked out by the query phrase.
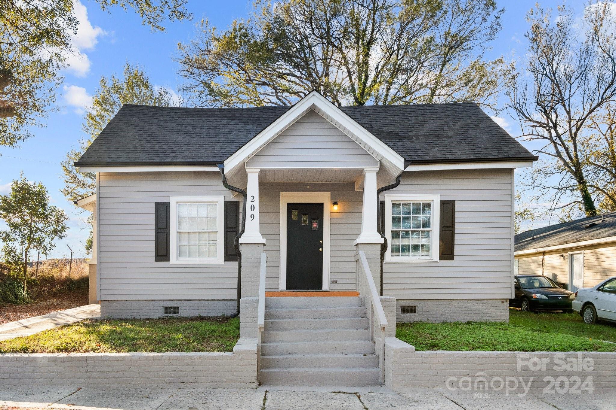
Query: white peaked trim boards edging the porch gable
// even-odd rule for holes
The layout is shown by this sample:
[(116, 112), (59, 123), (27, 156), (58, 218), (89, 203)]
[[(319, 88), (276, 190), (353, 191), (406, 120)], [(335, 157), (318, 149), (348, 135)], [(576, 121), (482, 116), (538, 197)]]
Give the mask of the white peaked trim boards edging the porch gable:
[(404, 169), (404, 159), (393, 149), (389, 148), (383, 141), (376, 138), (355, 120), (347, 116), (341, 109), (336, 107), (318, 92), (313, 91), (306, 97), (294, 104), (285, 114), (278, 117), (269, 127), (257, 134), (252, 140), (248, 141), (238, 151), (225, 160), (225, 168), (233, 170), (248, 160), (255, 152), (259, 151), (265, 144), (274, 140), (281, 132), (288, 128), (293, 122), (306, 114), (310, 109), (318, 112), (326, 120), (349, 135), (352, 140), (357, 142), (362, 148), (366, 149), (376, 159), (386, 159), (400, 171)]

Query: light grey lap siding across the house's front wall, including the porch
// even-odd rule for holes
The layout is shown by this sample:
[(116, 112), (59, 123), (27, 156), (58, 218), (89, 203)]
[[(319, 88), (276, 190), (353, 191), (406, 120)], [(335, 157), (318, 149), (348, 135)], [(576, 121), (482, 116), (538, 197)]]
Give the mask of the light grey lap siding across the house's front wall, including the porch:
[[(308, 187), (309, 186), (309, 187)], [(261, 183), (267, 288), (278, 290), (280, 192), (331, 192), (332, 290), (355, 288), (362, 191), (353, 183)], [(231, 193), (216, 172), (101, 173), (100, 299), (235, 299), (237, 262), (154, 261), (154, 203), (170, 195)], [(511, 293), (511, 170), (405, 172), (393, 194), (440, 194), (456, 201), (455, 260), (385, 263), (384, 293), (399, 299), (506, 299)], [(235, 199), (240, 199), (236, 197)], [(603, 262), (602, 262), (603, 263)], [(522, 262), (520, 265), (522, 272)]]

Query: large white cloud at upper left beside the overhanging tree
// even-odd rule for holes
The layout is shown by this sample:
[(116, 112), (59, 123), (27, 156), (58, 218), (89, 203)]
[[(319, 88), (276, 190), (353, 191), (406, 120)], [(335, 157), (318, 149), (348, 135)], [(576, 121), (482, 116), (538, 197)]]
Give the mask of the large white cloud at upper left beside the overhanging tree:
[(92, 23), (87, 18), (86, 6), (81, 4), (79, 0), (73, 1), (73, 7), (73, 12), (79, 21), (79, 25), (77, 27), (77, 34), (71, 35), (73, 51), (64, 53), (64, 57), (67, 59), (66, 70), (75, 74), (75, 76), (84, 77), (90, 71), (90, 59), (83, 51), (93, 50), (94, 46), (99, 42), (99, 37), (107, 33), (99, 26), (92, 26)]

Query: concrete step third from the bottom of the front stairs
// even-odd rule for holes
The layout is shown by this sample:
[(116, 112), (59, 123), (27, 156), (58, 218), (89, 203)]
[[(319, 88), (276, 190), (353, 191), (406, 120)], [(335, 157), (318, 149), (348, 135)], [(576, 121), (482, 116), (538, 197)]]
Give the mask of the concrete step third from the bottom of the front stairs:
[(370, 341), (346, 342), (276, 342), (261, 345), (261, 356), (318, 355), (318, 354), (367, 354), (375, 353), (375, 344)]

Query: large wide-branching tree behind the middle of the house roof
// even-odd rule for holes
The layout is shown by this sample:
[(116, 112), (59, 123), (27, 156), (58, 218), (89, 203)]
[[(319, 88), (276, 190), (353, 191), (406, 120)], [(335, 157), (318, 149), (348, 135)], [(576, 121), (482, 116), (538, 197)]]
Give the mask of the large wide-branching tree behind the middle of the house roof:
[(249, 20), (201, 22), (179, 44), (184, 91), (199, 106), (288, 105), (318, 90), (334, 103), (495, 103), (503, 59), (493, 0), (257, 0)]

